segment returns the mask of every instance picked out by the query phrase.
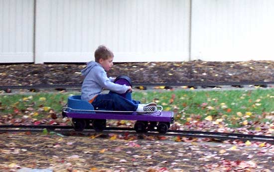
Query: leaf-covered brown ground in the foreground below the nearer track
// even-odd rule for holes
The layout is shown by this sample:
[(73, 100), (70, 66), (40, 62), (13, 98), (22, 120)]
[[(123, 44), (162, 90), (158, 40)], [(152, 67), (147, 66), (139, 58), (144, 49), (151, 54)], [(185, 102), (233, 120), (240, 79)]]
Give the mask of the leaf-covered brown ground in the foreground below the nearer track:
[(0, 134), (0, 171), (274, 172), (271, 145), (261, 148), (139, 137)]

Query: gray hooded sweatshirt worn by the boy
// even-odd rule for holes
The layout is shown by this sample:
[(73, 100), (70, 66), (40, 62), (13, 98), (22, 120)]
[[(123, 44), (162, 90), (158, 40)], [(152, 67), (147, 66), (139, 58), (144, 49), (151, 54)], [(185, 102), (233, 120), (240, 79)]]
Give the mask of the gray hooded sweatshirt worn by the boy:
[(95, 95), (100, 94), (102, 89), (109, 89), (117, 93), (125, 93), (130, 87), (113, 83), (115, 78), (108, 78), (107, 73), (97, 62), (91, 61), (87, 63), (87, 67), (81, 71), (85, 76), (82, 84), (82, 100), (91, 100)]

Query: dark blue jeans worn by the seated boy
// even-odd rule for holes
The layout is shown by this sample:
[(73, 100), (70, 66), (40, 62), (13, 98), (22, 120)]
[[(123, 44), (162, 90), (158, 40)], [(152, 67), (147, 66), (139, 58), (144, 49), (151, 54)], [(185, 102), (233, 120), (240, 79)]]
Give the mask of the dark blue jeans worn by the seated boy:
[(109, 92), (98, 94), (91, 104), (95, 110), (136, 111), (139, 103), (132, 100), (130, 92), (126, 94), (126, 98), (115, 92)]

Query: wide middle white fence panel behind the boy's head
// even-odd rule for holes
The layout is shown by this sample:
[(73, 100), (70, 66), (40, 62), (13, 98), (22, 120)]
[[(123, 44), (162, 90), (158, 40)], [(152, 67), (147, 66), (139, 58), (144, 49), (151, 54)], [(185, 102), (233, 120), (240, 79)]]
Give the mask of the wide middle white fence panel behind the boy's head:
[(37, 0), (37, 10), (37, 63), (90, 61), (100, 44), (115, 62), (188, 60), (189, 0)]

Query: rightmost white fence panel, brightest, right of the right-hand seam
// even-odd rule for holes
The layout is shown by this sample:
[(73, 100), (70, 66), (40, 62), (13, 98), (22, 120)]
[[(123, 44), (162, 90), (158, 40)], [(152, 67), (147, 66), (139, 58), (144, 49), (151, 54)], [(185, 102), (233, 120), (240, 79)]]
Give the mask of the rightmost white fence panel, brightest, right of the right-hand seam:
[(274, 60), (274, 0), (193, 0), (192, 59)]

